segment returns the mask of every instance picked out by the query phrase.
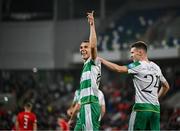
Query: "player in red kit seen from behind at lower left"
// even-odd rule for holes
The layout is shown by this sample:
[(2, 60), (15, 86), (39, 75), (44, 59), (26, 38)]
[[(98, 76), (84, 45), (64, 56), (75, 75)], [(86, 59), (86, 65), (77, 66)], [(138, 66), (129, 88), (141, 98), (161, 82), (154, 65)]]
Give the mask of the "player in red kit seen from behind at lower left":
[(24, 111), (20, 112), (16, 118), (16, 130), (20, 131), (37, 131), (36, 115), (31, 112), (32, 104), (26, 103)]

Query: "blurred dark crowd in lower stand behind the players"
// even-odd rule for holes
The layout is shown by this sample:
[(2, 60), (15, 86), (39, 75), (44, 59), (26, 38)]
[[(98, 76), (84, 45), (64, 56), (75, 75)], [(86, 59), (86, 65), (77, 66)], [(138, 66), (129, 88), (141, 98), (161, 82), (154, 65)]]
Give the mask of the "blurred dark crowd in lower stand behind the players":
[[(180, 73), (171, 74), (168, 68), (164, 70), (167, 79), (171, 80), (171, 90), (161, 102), (180, 91)], [(170, 79), (171, 75), (175, 76), (173, 81)], [(4, 94), (4, 97), (0, 97), (0, 129), (12, 129), (17, 113), (22, 110), (23, 103), (31, 101), (34, 105), (33, 112), (37, 115), (38, 129), (58, 130), (58, 118), (68, 119), (66, 110), (73, 100), (74, 91), (79, 86), (79, 78), (79, 69), (37, 72), (30, 70), (1, 71), (0, 92), (1, 95)], [(100, 89), (105, 95), (107, 108), (101, 122), (101, 129), (128, 129), (135, 93), (131, 78), (126, 74), (110, 74), (109, 71), (103, 70)], [(8, 94), (7, 98), (6, 94)], [(162, 105), (161, 129), (180, 129), (179, 123), (180, 107), (172, 108)]]

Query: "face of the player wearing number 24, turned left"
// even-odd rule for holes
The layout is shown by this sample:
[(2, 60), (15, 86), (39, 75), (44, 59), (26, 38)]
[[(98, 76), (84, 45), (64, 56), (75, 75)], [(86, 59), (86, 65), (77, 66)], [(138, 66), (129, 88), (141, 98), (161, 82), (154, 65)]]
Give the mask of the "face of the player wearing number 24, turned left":
[(139, 61), (141, 59), (141, 51), (135, 47), (131, 48), (130, 51), (131, 59), (135, 61)]

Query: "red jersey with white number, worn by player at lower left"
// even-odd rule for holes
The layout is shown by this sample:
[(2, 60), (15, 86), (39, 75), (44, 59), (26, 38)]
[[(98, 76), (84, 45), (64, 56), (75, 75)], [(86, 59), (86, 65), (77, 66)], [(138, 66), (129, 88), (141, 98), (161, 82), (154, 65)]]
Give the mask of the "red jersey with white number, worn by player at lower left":
[(32, 112), (20, 112), (17, 116), (19, 130), (33, 130), (33, 124), (37, 122), (36, 115)]

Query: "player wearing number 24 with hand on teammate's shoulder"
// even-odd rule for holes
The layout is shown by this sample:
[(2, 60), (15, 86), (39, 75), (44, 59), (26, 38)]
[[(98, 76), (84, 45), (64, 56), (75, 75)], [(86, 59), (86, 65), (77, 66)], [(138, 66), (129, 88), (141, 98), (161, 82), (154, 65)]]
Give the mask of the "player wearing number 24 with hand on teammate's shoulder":
[[(147, 46), (138, 41), (131, 46), (131, 58), (134, 61), (128, 66), (120, 66), (103, 58), (101, 62), (109, 69), (133, 75), (136, 90), (135, 104), (129, 121), (129, 130), (160, 130), (160, 105), (158, 98), (169, 90), (160, 67), (148, 60)], [(158, 92), (158, 87), (161, 88)]]

